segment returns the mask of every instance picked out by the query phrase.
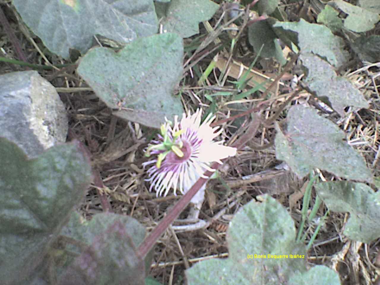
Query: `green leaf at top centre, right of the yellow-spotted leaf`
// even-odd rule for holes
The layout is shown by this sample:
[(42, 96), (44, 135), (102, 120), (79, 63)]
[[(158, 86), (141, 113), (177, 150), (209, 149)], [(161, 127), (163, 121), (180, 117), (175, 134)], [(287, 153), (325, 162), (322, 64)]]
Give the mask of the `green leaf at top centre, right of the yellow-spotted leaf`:
[(171, 0), (155, 3), (158, 19), (163, 30), (188, 38), (199, 33), (199, 22), (209, 20), (219, 9), (210, 0)]

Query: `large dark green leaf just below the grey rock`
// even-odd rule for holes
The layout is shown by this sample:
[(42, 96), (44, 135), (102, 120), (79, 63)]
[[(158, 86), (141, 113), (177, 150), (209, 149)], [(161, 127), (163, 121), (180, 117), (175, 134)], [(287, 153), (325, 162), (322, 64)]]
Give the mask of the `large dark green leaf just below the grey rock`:
[(27, 160), (0, 138), (0, 280), (18, 284), (43, 260), (90, 183), (89, 160), (78, 143), (52, 147)]

